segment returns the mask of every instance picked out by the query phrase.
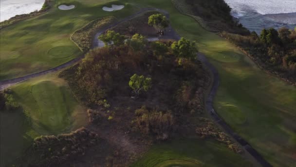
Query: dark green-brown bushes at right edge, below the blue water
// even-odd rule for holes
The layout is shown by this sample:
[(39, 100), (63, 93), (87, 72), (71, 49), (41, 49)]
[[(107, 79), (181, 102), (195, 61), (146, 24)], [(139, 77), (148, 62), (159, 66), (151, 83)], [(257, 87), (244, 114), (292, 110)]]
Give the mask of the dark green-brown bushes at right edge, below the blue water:
[(248, 36), (223, 32), (222, 36), (246, 51), (259, 66), (296, 83), (296, 29), (263, 29), (260, 36), (255, 32)]

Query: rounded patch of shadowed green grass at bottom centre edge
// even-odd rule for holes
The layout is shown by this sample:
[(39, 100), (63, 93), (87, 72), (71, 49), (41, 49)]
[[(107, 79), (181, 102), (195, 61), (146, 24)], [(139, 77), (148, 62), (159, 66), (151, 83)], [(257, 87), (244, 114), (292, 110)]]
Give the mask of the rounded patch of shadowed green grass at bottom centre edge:
[(131, 167), (250, 167), (224, 145), (204, 140), (177, 140), (152, 146)]

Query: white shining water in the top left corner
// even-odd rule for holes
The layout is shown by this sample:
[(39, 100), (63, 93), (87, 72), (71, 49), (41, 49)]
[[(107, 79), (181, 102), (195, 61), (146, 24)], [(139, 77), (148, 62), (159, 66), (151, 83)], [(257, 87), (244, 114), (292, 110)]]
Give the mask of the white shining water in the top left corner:
[(0, 0), (0, 21), (40, 10), (44, 0)]

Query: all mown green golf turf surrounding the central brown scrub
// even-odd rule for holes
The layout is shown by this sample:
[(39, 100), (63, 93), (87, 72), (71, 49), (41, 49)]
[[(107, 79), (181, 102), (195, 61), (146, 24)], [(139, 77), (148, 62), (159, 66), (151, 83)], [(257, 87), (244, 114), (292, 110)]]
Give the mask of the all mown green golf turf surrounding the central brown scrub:
[[(187, 39), (195, 40), (199, 50), (219, 71), (220, 86), (214, 102), (216, 112), (273, 166), (296, 166), (295, 87), (261, 71), (233, 44), (214, 33), (205, 31), (194, 19), (180, 14), (170, 0), (121, 0), (108, 3), (128, 3), (125, 4), (125, 8), (116, 12), (102, 11), (102, 6), (106, 5), (103, 2), (107, 2), (107, 0), (56, 0), (55, 5), (48, 13), (2, 29), (0, 31), (0, 80), (49, 69), (81, 55), (81, 51), (70, 40), (70, 35), (98, 17), (111, 15), (118, 19), (127, 17), (137, 10), (132, 5), (133, 3), (141, 5), (141, 7), (153, 6), (165, 9), (169, 12), (171, 24), (177, 32)], [(69, 11), (58, 10), (57, 6), (63, 3), (74, 4), (75, 8)], [(74, 119), (78, 117), (73, 117), (72, 120), (63, 119), (69, 118), (69, 111), (73, 112), (71, 107), (79, 106), (64, 81), (44, 76), (42, 79), (18, 84), (12, 89), (16, 93), (19, 103), (30, 112), (33, 124), (31, 128), (22, 126), (21, 121), (14, 122), (14, 124), (8, 123), (8, 121), (12, 121), (10, 117), (15, 118), (14, 120), (22, 120), (23, 116), (19, 113), (9, 116), (6, 113), (1, 113), (1, 133), (15, 131), (17, 134), (14, 135), (23, 135), (23, 138), (13, 136), (13, 134), (11, 134), (12, 136), (1, 135), (1, 141), (17, 143), (11, 149), (14, 147), (19, 149), (18, 144), (21, 146), (23, 146), (22, 143), (28, 144), (30, 143), (28, 141), (32, 141), (39, 134), (56, 134), (70, 130), (74, 125), (81, 125), (76, 123), (77, 120)], [(53, 92), (49, 90), (53, 90)], [(45, 91), (46, 93), (41, 93)], [(38, 99), (40, 101), (36, 103), (35, 100)], [(46, 99), (51, 99), (50, 103), (47, 103)], [(53, 105), (55, 108), (49, 107)], [(42, 115), (40, 110), (48, 110), (49, 113), (46, 114), (49, 115), (43, 112)], [(61, 110), (58, 116), (55, 115), (56, 110)], [(51, 114), (53, 115), (51, 116)], [(71, 113), (70, 115), (73, 116)], [(50, 118), (54, 120), (54, 123)], [(2, 126), (6, 123), (6, 126)], [(8, 125), (11, 126), (9, 131), (2, 129)], [(9, 140), (9, 138), (14, 139)], [(7, 144), (7, 146), (9, 145), (12, 143)], [(135, 165), (147, 163), (151, 164), (151, 167), (156, 165), (160, 167), (178, 165), (191, 167), (194, 163), (199, 162), (204, 166), (215, 166), (211, 163), (217, 161), (225, 163), (225, 166), (235, 166), (235, 162), (239, 162), (241, 158), (240, 155), (226, 151), (222, 146), (219, 147), (217, 143), (196, 141), (186, 142), (186, 144), (178, 143), (178, 145), (171, 143), (154, 146)], [(189, 153), (181, 151), (181, 148), (189, 149), (187, 150)], [(212, 152), (205, 151), (202, 156), (199, 156), (190, 153), (191, 148), (201, 151), (208, 149)], [(221, 149), (217, 150), (216, 148)], [(207, 153), (209, 153), (209, 157), (212, 157), (212, 154), (216, 154), (215, 151), (218, 151), (215, 158), (208, 160)], [(166, 154), (169, 152), (171, 155)], [(222, 155), (229, 155), (231, 157), (229, 161), (231, 160), (234, 164), (226, 164), (217, 158)], [(164, 158), (160, 159), (159, 156)], [(175, 157), (175, 160), (169, 162), (170, 156)]]

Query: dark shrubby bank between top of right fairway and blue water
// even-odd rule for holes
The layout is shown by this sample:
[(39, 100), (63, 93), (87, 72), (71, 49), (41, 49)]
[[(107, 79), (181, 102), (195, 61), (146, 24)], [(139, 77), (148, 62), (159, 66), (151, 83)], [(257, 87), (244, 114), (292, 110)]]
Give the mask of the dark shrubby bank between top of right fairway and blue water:
[(194, 18), (207, 30), (249, 34), (249, 31), (231, 16), (231, 8), (224, 0), (172, 0), (172, 2), (181, 13)]

